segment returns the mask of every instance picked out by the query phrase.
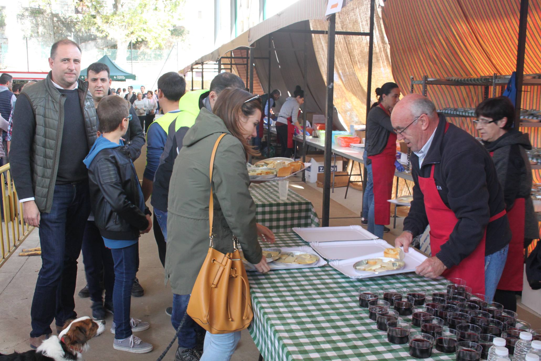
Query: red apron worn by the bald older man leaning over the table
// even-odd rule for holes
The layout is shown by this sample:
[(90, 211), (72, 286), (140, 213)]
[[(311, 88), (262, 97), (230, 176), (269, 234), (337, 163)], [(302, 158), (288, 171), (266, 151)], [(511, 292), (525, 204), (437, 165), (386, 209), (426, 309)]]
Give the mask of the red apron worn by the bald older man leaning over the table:
[[(446, 124), (445, 132), (449, 124)], [(458, 219), (454, 212), (449, 209), (439, 195), (434, 181), (434, 165), (430, 170), (430, 178), (419, 177), (419, 188), (423, 192), (425, 200), (425, 211), (430, 224), (430, 248), (432, 255), (436, 255), (445, 242), (449, 240)], [(505, 215), (505, 209), (490, 218), (492, 222)], [(466, 285), (472, 287), (472, 293), (485, 294), (485, 238), (486, 229), (483, 238), (477, 248), (459, 265), (445, 270), (441, 275), (447, 279), (461, 278), (466, 281)]]

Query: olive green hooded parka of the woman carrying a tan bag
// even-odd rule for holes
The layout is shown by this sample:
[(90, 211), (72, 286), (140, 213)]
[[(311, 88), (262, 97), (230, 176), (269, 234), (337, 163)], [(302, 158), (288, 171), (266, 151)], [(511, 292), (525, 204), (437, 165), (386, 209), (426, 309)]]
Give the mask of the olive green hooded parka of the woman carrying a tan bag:
[(261, 261), (255, 224), (255, 204), (248, 190), (246, 153), (223, 121), (201, 109), (183, 139), (173, 167), (167, 215), (165, 281), (175, 294), (190, 294), (209, 247), (209, 163), (214, 143), (226, 133), (216, 151), (212, 178), (214, 248), (233, 252), (233, 235), (252, 264)]

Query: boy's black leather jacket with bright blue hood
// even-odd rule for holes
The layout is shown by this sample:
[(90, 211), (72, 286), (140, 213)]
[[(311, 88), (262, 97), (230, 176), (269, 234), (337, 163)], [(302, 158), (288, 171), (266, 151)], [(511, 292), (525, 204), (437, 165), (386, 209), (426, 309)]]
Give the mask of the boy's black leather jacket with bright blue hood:
[[(143, 193), (128, 146), (98, 137), (83, 161), (88, 168), (90, 204), (102, 237), (137, 240), (148, 227)], [(116, 248), (116, 247), (110, 247)]]

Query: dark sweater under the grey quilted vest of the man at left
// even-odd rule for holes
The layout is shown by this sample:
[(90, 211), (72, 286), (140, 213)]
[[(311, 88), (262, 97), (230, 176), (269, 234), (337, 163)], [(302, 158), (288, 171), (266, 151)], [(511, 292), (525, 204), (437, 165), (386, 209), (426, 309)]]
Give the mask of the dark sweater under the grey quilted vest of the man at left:
[[(58, 172), (56, 176), (56, 184), (61, 185), (80, 182), (88, 178), (87, 167), (83, 164), (83, 159), (88, 154), (88, 139), (78, 90), (58, 89), (58, 91), (66, 95), (62, 146), (60, 147), (60, 159), (58, 160)], [(17, 122), (17, 132), (32, 135), (17, 137), (18, 142), (28, 142), (27, 144), (21, 144), (21, 148), (19, 149), (31, 149), (31, 142), (36, 132), (36, 119), (34, 117), (34, 110), (32, 110), (30, 101), (26, 96), (21, 96), (21, 99), (17, 98), (13, 119)], [(17, 119), (27, 119), (30, 121), (17, 121)], [(10, 154), (11, 162), (28, 162), (28, 159), (30, 159), (30, 154)], [(28, 180), (30, 181), (30, 178)], [(32, 189), (31, 183), (27, 186)]]

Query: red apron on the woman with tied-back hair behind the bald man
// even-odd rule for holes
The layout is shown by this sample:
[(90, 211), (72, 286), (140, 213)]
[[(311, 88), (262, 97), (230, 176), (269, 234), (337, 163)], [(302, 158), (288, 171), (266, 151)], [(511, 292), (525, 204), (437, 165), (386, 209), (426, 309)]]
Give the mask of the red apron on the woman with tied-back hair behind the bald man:
[[(385, 113), (389, 114), (379, 104)], [(388, 225), (391, 223), (391, 199), (393, 190), (394, 161), (397, 160), (397, 135), (389, 134), (387, 145), (380, 154), (370, 155), (372, 161), (372, 180), (374, 184), (374, 224)]]

